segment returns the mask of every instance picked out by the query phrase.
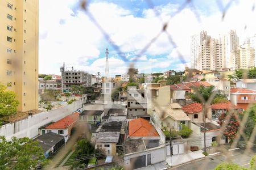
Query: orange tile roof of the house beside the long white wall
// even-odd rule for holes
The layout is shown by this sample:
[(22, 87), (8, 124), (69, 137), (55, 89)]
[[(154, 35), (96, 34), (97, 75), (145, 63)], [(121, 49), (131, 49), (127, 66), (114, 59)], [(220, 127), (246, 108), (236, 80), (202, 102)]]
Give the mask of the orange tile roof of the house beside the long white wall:
[(68, 116), (61, 118), (61, 120), (46, 126), (46, 129), (67, 129), (68, 126), (72, 125), (79, 119), (79, 112), (69, 114)]

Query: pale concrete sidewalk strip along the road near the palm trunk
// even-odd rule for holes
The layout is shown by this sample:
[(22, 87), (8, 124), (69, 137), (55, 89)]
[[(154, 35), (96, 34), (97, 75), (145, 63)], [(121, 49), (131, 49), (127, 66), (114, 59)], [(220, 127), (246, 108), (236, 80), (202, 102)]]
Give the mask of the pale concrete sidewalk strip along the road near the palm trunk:
[(205, 157), (205, 155), (203, 154), (203, 151), (199, 150), (199, 151), (195, 151), (195, 152), (190, 152), (185, 155), (167, 156), (166, 162), (170, 166), (174, 167), (176, 165), (180, 165), (180, 164), (187, 163), (192, 160), (200, 159), (200, 158), (204, 158), (204, 157)]

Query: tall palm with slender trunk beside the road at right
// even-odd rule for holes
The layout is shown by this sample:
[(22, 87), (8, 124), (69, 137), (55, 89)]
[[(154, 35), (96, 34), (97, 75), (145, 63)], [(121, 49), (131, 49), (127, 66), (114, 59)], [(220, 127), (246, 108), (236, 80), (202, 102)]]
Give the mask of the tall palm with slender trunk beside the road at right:
[(200, 103), (203, 107), (204, 151), (206, 152), (205, 121), (207, 110), (210, 108), (210, 105), (228, 102), (228, 99), (221, 91), (215, 91), (214, 86), (204, 87), (202, 85), (198, 89), (195, 89), (195, 93), (188, 93), (187, 96), (191, 97), (191, 99), (196, 103)]

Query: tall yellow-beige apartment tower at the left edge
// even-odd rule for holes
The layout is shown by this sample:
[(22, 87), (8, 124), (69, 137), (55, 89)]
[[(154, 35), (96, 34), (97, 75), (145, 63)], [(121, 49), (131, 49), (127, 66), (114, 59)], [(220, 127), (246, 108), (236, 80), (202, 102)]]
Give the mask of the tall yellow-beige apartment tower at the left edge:
[(0, 11), (0, 82), (18, 111), (38, 109), (38, 0), (1, 0)]

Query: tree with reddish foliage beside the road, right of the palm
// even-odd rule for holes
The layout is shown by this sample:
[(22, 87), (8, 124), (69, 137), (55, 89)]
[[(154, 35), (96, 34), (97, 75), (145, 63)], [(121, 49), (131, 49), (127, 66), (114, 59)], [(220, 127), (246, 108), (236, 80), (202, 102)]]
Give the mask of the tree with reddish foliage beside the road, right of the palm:
[[(226, 113), (222, 113), (220, 117), (218, 117), (218, 124), (222, 126), (226, 116)], [(239, 124), (240, 123), (238, 121), (238, 117), (234, 113), (230, 113), (229, 122), (226, 124), (224, 134), (228, 137), (228, 139), (230, 139), (231, 143), (233, 142), (233, 139), (235, 139), (237, 136)]]

